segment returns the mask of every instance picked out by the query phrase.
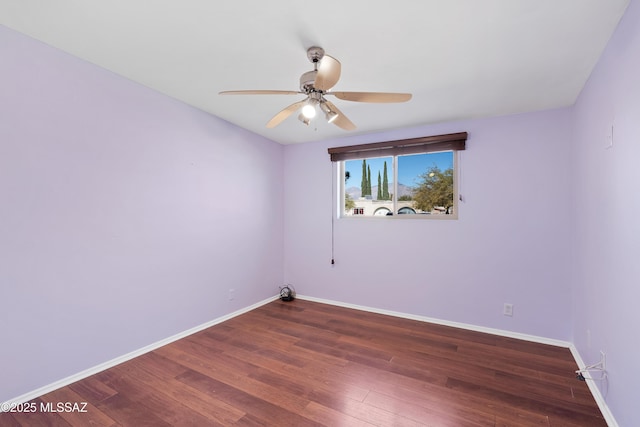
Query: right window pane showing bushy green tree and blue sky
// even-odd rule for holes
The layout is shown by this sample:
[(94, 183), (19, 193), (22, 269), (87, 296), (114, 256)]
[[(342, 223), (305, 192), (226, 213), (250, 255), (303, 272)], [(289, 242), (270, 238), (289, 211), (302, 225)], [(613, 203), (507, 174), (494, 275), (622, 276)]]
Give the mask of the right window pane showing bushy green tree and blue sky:
[(453, 151), (398, 156), (398, 214), (452, 214)]

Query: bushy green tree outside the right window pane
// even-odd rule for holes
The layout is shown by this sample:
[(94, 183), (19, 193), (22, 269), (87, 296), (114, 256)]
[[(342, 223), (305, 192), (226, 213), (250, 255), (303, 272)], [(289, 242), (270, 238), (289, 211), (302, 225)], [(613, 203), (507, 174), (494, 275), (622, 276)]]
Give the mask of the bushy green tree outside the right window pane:
[(414, 207), (430, 212), (437, 206), (447, 209), (453, 207), (453, 169), (441, 171), (437, 166), (430, 167), (420, 175), (422, 182), (413, 194)]

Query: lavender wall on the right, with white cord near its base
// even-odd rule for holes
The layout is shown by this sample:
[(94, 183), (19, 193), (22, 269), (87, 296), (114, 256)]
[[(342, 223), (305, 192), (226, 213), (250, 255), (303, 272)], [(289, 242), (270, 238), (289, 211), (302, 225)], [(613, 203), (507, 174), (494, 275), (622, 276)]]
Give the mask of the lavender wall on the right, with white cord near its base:
[(599, 385), (621, 426), (640, 425), (638, 76), (640, 3), (633, 0), (573, 111), (574, 342), (587, 363), (606, 353), (609, 379)]

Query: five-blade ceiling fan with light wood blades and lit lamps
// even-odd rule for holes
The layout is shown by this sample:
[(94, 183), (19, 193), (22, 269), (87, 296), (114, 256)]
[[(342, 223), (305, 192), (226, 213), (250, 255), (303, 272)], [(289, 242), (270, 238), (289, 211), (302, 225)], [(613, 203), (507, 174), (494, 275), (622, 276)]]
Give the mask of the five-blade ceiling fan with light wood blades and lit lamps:
[(311, 119), (316, 115), (316, 107), (325, 114), (327, 122), (344, 130), (354, 130), (353, 124), (347, 116), (342, 113), (325, 96), (332, 95), (338, 99), (355, 102), (391, 103), (406, 102), (411, 99), (410, 93), (389, 93), (389, 92), (330, 92), (331, 88), (340, 79), (340, 61), (325, 55), (324, 49), (312, 46), (307, 49), (307, 58), (313, 64), (313, 70), (300, 76), (300, 90), (228, 90), (220, 92), (220, 95), (297, 95), (304, 94), (306, 98), (302, 101), (294, 102), (277, 113), (267, 122), (268, 128), (274, 128), (282, 123), (287, 117), (301, 110), (298, 119), (305, 125), (309, 125)]

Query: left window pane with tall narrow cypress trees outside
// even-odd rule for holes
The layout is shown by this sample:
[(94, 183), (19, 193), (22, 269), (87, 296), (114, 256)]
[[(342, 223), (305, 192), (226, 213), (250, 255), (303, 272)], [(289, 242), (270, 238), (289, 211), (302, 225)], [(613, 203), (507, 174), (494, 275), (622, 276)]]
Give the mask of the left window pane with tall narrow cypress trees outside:
[(393, 212), (393, 158), (344, 162), (344, 215), (386, 216)]

